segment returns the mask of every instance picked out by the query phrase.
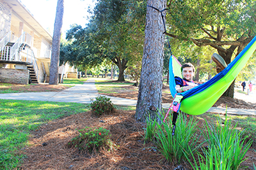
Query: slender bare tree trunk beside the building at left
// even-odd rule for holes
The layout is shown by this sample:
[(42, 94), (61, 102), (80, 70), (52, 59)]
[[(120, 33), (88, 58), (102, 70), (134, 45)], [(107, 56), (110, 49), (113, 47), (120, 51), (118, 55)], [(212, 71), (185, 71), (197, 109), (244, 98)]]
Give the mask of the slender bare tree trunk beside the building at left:
[(60, 64), (60, 38), (63, 22), (64, 0), (58, 0), (56, 8), (56, 18), (52, 38), (52, 56), (49, 85), (58, 85), (59, 64)]

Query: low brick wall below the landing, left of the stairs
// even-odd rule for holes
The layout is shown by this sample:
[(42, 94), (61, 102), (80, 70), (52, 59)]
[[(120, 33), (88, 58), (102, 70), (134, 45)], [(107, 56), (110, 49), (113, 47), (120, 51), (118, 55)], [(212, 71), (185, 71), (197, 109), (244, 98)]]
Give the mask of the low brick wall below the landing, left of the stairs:
[(2, 69), (0, 68), (1, 83), (19, 83), (28, 85), (28, 69)]

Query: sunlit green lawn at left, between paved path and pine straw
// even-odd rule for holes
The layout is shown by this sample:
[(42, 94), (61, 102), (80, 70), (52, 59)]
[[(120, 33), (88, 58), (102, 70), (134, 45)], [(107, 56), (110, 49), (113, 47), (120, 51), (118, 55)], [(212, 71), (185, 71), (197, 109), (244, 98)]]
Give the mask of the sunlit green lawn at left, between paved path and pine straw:
[(30, 132), (56, 118), (89, 110), (88, 104), (0, 99), (0, 169), (14, 169), (24, 155)]

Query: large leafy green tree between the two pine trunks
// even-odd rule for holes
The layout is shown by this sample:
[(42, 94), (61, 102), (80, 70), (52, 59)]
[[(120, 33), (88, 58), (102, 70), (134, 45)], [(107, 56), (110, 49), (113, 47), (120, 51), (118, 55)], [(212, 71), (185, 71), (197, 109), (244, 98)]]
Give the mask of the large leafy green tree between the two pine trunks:
[(131, 60), (141, 59), (143, 52), (143, 17), (134, 14), (140, 6), (137, 1), (97, 1), (90, 23), (85, 28), (73, 25), (67, 32), (72, 43), (65, 46), (64, 60), (77, 66), (111, 60), (119, 68), (118, 80), (124, 81), (124, 70), (133, 64)]

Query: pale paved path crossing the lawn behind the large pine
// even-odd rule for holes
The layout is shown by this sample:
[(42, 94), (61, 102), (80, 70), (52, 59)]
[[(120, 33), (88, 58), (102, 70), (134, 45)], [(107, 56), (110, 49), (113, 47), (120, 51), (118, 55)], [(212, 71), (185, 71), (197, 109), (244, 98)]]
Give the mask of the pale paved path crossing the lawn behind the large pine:
[[(56, 101), (56, 102), (71, 102), (71, 103), (91, 103), (91, 99), (100, 96), (95, 87), (94, 80), (87, 80), (83, 85), (75, 85), (61, 92), (29, 92), (29, 93), (10, 93), (0, 94), (0, 99), (12, 100), (29, 100), (29, 101)], [(111, 97), (113, 104), (120, 106), (136, 106), (137, 101), (124, 99), (119, 97)], [(169, 108), (170, 104), (163, 104), (163, 108)], [(212, 107), (209, 112), (226, 113), (225, 108)], [(256, 115), (256, 110), (242, 110), (228, 108), (228, 114), (232, 115)]]

